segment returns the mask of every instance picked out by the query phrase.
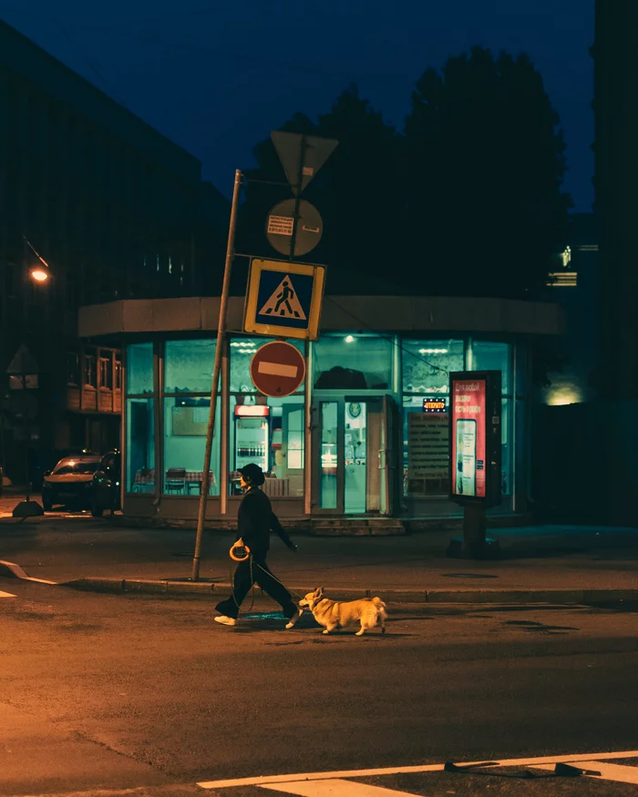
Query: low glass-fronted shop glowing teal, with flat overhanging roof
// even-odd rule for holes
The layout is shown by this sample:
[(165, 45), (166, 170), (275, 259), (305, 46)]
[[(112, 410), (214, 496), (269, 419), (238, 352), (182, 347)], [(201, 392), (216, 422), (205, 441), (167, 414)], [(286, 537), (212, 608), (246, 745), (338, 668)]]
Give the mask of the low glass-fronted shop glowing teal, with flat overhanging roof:
[[(158, 523), (197, 517), (219, 298), (115, 301), (82, 308), (87, 344), (124, 352), (123, 513)], [(232, 298), (229, 329), (242, 329)], [(229, 333), (211, 458), (207, 518), (232, 525), (237, 470), (262, 465), (275, 512), (295, 525), (459, 516), (448, 500), (448, 374), (502, 374), (501, 506), (529, 494), (530, 344), (561, 332), (551, 303), (402, 296), (326, 297), (321, 337), (297, 393), (255, 390), (267, 338)], [(382, 522), (383, 521), (383, 522)]]

